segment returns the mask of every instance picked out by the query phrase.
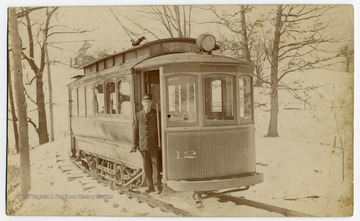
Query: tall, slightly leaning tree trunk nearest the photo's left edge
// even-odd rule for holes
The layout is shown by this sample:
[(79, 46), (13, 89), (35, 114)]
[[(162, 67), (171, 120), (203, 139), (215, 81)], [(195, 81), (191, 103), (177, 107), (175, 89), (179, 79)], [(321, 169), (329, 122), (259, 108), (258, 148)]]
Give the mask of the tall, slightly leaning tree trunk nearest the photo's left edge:
[(29, 135), (21, 64), (21, 42), (15, 8), (9, 9), (9, 20), (12, 55), (14, 62), (13, 88), (16, 102), (16, 111), (19, 118), (21, 193), (26, 194), (31, 189)]

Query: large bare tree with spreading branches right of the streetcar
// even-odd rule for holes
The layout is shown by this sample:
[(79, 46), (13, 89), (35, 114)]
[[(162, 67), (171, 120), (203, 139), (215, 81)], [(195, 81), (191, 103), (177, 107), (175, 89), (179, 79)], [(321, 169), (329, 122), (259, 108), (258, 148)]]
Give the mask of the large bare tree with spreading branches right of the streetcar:
[(279, 136), (278, 90), (282, 79), (289, 73), (330, 66), (329, 61), (339, 56), (325, 49), (336, 42), (326, 36), (328, 24), (322, 19), (330, 9), (324, 5), (278, 5), (274, 19), (269, 21), (273, 34), (263, 41), (271, 66), (269, 137)]

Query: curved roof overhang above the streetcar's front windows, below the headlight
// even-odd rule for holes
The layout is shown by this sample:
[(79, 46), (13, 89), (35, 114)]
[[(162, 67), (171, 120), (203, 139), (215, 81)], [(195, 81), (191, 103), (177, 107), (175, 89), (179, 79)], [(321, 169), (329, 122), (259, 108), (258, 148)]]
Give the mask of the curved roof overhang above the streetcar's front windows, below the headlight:
[(240, 65), (245, 67), (252, 67), (252, 64), (247, 61), (238, 60), (235, 58), (225, 57), (221, 55), (197, 54), (194, 52), (167, 54), (149, 58), (134, 66), (135, 69), (146, 69), (151, 67), (159, 67), (174, 63), (200, 63), (200, 64), (225, 64), (225, 65)]

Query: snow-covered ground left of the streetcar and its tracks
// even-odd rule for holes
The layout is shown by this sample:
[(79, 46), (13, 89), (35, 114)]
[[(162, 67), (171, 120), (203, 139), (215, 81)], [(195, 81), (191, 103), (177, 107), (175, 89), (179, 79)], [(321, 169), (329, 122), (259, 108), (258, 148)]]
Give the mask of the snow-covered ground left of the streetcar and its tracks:
[[(83, 190), (77, 179), (68, 181), (66, 173), (61, 172), (56, 163), (57, 149), (69, 147), (69, 138), (58, 139), (53, 143), (41, 145), (31, 151), (32, 188), (28, 199), (15, 211), (8, 214), (25, 216), (174, 216), (159, 208), (152, 209), (147, 204), (139, 204), (136, 199), (128, 199), (109, 187), (96, 185)], [(63, 149), (63, 151), (67, 151)], [(9, 164), (17, 164), (18, 156), (11, 156)], [(18, 177), (19, 178), (19, 177)], [(17, 180), (19, 182), (19, 180)], [(19, 188), (9, 194), (8, 201), (22, 198)], [(97, 198), (98, 194), (103, 197)]]

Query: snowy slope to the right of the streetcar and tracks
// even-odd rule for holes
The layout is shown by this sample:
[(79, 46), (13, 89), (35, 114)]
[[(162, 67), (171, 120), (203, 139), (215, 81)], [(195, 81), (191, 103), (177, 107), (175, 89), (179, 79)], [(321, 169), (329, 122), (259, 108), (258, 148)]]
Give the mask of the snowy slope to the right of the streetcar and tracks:
[[(316, 105), (304, 110), (282, 91), (278, 138), (264, 137), (269, 112), (256, 113), (257, 170), (264, 173), (264, 183), (248, 191), (247, 196), (316, 216), (350, 215), (353, 75), (316, 70), (298, 78), (307, 80), (304, 87), (322, 85), (309, 92)], [(331, 108), (332, 102), (335, 109)], [(339, 134), (344, 141), (344, 163)]]

